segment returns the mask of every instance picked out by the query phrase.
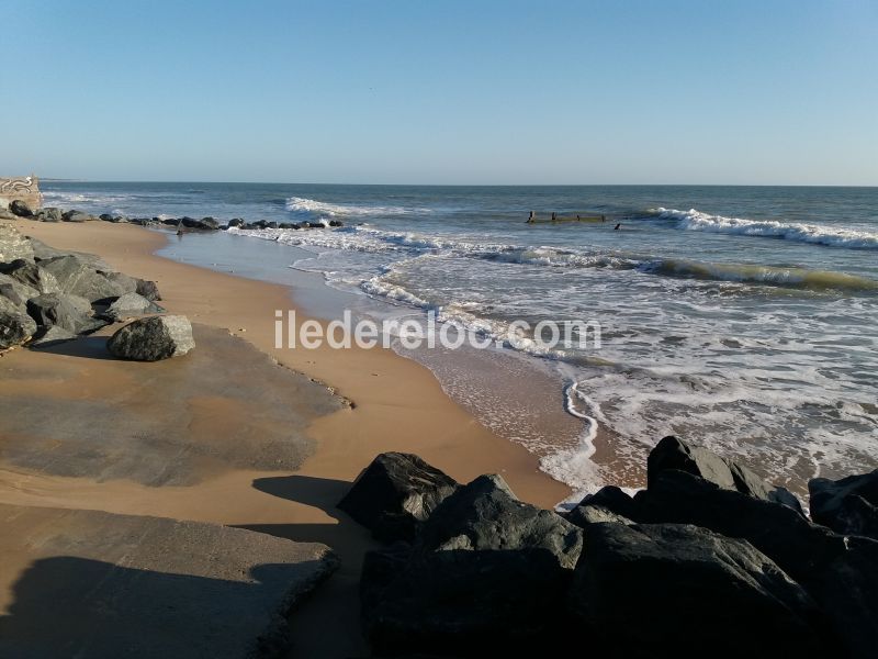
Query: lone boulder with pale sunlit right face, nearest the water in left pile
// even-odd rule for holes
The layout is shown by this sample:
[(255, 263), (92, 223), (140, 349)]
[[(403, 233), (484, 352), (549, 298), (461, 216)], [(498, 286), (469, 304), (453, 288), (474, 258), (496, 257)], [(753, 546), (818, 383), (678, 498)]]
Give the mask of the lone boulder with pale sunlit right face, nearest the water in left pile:
[(136, 361), (180, 357), (195, 347), (192, 325), (182, 315), (140, 319), (119, 330), (106, 347), (114, 356)]

